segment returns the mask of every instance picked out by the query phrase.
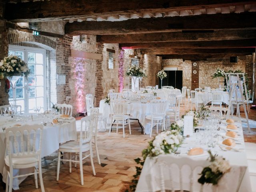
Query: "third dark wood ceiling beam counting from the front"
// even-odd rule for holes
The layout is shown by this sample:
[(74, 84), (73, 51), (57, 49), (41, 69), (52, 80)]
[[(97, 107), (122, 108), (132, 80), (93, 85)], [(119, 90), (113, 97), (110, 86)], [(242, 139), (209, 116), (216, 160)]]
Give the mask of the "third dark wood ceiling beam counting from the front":
[(214, 41), (256, 38), (256, 30), (226, 30), (212, 32), (162, 32), (122, 35), (97, 35), (101, 43), (140, 43), (173, 41)]

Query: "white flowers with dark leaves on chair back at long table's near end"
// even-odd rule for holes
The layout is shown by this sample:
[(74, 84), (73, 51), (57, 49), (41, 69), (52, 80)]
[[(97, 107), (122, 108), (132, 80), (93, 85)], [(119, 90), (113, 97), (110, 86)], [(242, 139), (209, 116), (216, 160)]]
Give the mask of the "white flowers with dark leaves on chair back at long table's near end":
[(211, 183), (213, 185), (218, 184), (218, 181), (222, 176), (230, 171), (230, 164), (221, 156), (212, 155), (210, 150), (210, 165), (205, 167), (201, 172), (201, 177), (198, 179), (200, 184)]

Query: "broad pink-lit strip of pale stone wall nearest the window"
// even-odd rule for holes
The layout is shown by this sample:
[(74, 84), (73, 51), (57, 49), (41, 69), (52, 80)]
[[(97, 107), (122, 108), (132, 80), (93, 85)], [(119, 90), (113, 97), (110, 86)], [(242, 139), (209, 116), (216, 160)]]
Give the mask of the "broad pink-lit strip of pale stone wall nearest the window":
[(76, 110), (77, 112), (83, 112), (85, 110), (85, 94), (84, 94), (84, 79), (85, 79), (85, 68), (83, 64), (83, 59), (76, 58), (74, 60), (74, 79), (75, 90), (76, 90)]

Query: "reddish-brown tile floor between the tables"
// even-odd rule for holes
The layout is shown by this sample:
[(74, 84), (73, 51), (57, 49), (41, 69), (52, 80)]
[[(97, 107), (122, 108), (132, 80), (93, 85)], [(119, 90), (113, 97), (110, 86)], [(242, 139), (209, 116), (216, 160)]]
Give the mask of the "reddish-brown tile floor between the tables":
[[(181, 108), (181, 115), (185, 110), (185, 107)], [(243, 114), (242, 111), (241, 114)], [(247, 125), (243, 123), (245, 126), (244, 139), (247, 142), (256, 142), (256, 110), (251, 110), (248, 116), (252, 132), (248, 133)], [(126, 127), (126, 138), (122, 138), (121, 129), (118, 134), (112, 133), (111, 136), (108, 136), (107, 132), (98, 133), (101, 165), (98, 164), (96, 155), (94, 155), (96, 176), (93, 176), (90, 158), (84, 160), (84, 186), (80, 185), (79, 166), (77, 168), (73, 166), (72, 173), (69, 173), (68, 163), (61, 164), (60, 180), (57, 182), (57, 154), (43, 158), (42, 171), (46, 192), (118, 192), (128, 188), (133, 178), (132, 176), (136, 172), (136, 163), (133, 159), (141, 156), (141, 151), (146, 148), (148, 141), (151, 140), (148, 135), (141, 134), (138, 122), (133, 121), (131, 125), (132, 135), (128, 134), (128, 128)], [(77, 126), (80, 126), (79, 120), (77, 120)], [(156, 135), (156, 130), (153, 130), (153, 135)], [(2, 188), (0, 187), (1, 190)], [(26, 178), (20, 184), (20, 190), (17, 190), (17, 192), (24, 191), (40, 191), (40, 188), (35, 188), (33, 176)]]

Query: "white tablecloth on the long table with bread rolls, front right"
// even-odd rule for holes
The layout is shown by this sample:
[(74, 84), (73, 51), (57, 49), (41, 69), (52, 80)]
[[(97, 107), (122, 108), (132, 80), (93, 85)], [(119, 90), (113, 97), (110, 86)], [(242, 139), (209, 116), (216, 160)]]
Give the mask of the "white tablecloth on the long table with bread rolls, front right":
[[(219, 131), (220, 134), (224, 133), (223, 130)], [(222, 191), (236, 191), (235, 187), (236, 185), (234, 184), (238, 184), (237, 186), (239, 186), (239, 192), (251, 192), (251, 185), (250, 185), (250, 176), (249, 176), (249, 172), (248, 172), (248, 168), (247, 168), (247, 160), (246, 160), (246, 152), (245, 152), (245, 146), (244, 146), (244, 139), (243, 139), (243, 133), (242, 133), (242, 126), (240, 127), (240, 134), (241, 136), (239, 136), (240, 141), (242, 142), (242, 144), (236, 144), (236, 148), (240, 148), (243, 149), (242, 152), (234, 152), (233, 150), (231, 151), (222, 151), (218, 145), (216, 145), (215, 148), (210, 148), (210, 150), (212, 151), (213, 154), (218, 154), (223, 156), (226, 160), (228, 160), (230, 162), (230, 165), (232, 166), (231, 171), (227, 174), (225, 174), (223, 176), (223, 178), (220, 180), (220, 186), (219, 186), (219, 192)], [(222, 142), (222, 138), (218, 137), (219, 140), (221, 140), (220, 142)], [(201, 155), (201, 156), (188, 156), (186, 154), (186, 152), (192, 148), (192, 147), (202, 147), (204, 148), (204, 150), (208, 150), (208, 146), (202, 146), (200, 145), (197, 140), (195, 135), (193, 135), (190, 138), (185, 138), (184, 140), (184, 144), (182, 144), (182, 147), (180, 147), (178, 149), (178, 151), (180, 151), (180, 155), (179, 156), (187, 156), (190, 158), (194, 158), (194, 159), (200, 159), (200, 160), (206, 160), (208, 158), (208, 154), (205, 153), (205, 155)], [(164, 156), (166, 156), (166, 159), (168, 159), (168, 156), (171, 156), (171, 154), (165, 154)], [(155, 158), (146, 158), (146, 161), (144, 163), (144, 166), (142, 168), (142, 172), (140, 175), (140, 179), (136, 188), (136, 192), (151, 192), (151, 191), (156, 191), (156, 190), (160, 190), (160, 172), (159, 172), (159, 165), (158, 162), (156, 161), (158, 157)], [(188, 162), (189, 164), (189, 162)], [(165, 171), (164, 171), (164, 178), (165, 180), (170, 180), (170, 174), (168, 174), (168, 170), (169, 168), (166, 167)], [(172, 171), (178, 171), (176, 169), (173, 169), (172, 167)], [(184, 171), (184, 170), (183, 170)], [(174, 172), (174, 175), (177, 175), (177, 178), (174, 178), (174, 183), (175, 185), (175, 190), (179, 190), (179, 182), (178, 182), (178, 173)], [(188, 175), (188, 172), (184, 172), (183, 174)], [(151, 180), (151, 178), (154, 177), (153, 180)], [(188, 190), (189, 185), (188, 185), (188, 180), (184, 180), (184, 182), (186, 183), (184, 185), (183, 190)], [(197, 182), (196, 182), (197, 183)], [(200, 186), (198, 184), (198, 186)], [(206, 190), (204, 191), (213, 191), (211, 188), (211, 185), (208, 186), (204, 186), (206, 187)], [(154, 190), (153, 190), (154, 189)], [(168, 186), (166, 187), (166, 190), (170, 190), (170, 188), (168, 188)], [(216, 190), (215, 190), (216, 191)], [(214, 192), (214, 191), (213, 191)]]

